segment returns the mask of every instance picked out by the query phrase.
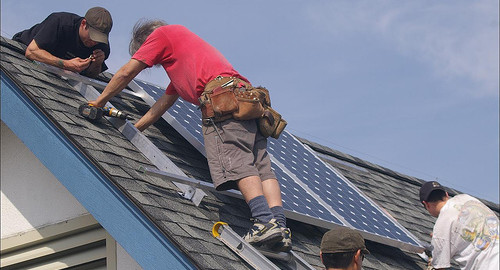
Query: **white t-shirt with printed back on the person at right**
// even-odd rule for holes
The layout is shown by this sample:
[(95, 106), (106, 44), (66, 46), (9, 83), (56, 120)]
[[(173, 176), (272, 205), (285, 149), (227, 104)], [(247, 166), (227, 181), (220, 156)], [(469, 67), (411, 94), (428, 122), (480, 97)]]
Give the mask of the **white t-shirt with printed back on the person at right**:
[(450, 198), (441, 208), (432, 232), (432, 266), (461, 269), (499, 268), (499, 221), (478, 199), (466, 194)]

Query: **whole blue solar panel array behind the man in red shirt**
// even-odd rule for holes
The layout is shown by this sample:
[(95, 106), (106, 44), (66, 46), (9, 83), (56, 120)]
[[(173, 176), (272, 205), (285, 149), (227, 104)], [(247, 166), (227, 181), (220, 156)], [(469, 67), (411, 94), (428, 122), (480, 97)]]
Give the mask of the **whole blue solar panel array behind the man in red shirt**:
[[(164, 93), (157, 86), (135, 81), (155, 100)], [(203, 145), (201, 113), (196, 105), (178, 99), (168, 113)], [(286, 130), (279, 139), (268, 139), (268, 152), (286, 210), (421, 247), (411, 233)]]

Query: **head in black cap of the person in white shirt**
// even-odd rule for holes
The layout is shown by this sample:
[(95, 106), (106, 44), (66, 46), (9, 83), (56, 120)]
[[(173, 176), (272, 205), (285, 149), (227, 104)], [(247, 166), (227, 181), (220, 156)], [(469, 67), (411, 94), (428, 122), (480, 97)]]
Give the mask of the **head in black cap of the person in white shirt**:
[(448, 192), (436, 181), (425, 182), (420, 187), (419, 195), (420, 202), (433, 217), (439, 216), (441, 207), (448, 201), (449, 197)]

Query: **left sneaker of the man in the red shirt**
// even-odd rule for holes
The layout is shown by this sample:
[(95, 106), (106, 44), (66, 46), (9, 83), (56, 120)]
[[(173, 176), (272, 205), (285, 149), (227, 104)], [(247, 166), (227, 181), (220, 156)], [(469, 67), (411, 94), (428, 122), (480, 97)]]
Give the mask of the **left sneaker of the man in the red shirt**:
[(255, 220), (248, 233), (243, 236), (245, 241), (255, 246), (274, 244), (282, 238), (281, 228), (274, 218), (267, 223)]

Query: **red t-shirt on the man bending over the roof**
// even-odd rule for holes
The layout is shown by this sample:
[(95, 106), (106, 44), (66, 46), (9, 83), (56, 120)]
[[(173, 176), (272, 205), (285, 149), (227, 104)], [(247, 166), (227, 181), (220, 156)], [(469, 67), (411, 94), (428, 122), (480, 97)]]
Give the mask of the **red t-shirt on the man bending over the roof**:
[(170, 78), (165, 93), (196, 105), (205, 85), (218, 75), (248, 82), (217, 49), (182, 25), (157, 28), (132, 58), (149, 67), (161, 64)]

